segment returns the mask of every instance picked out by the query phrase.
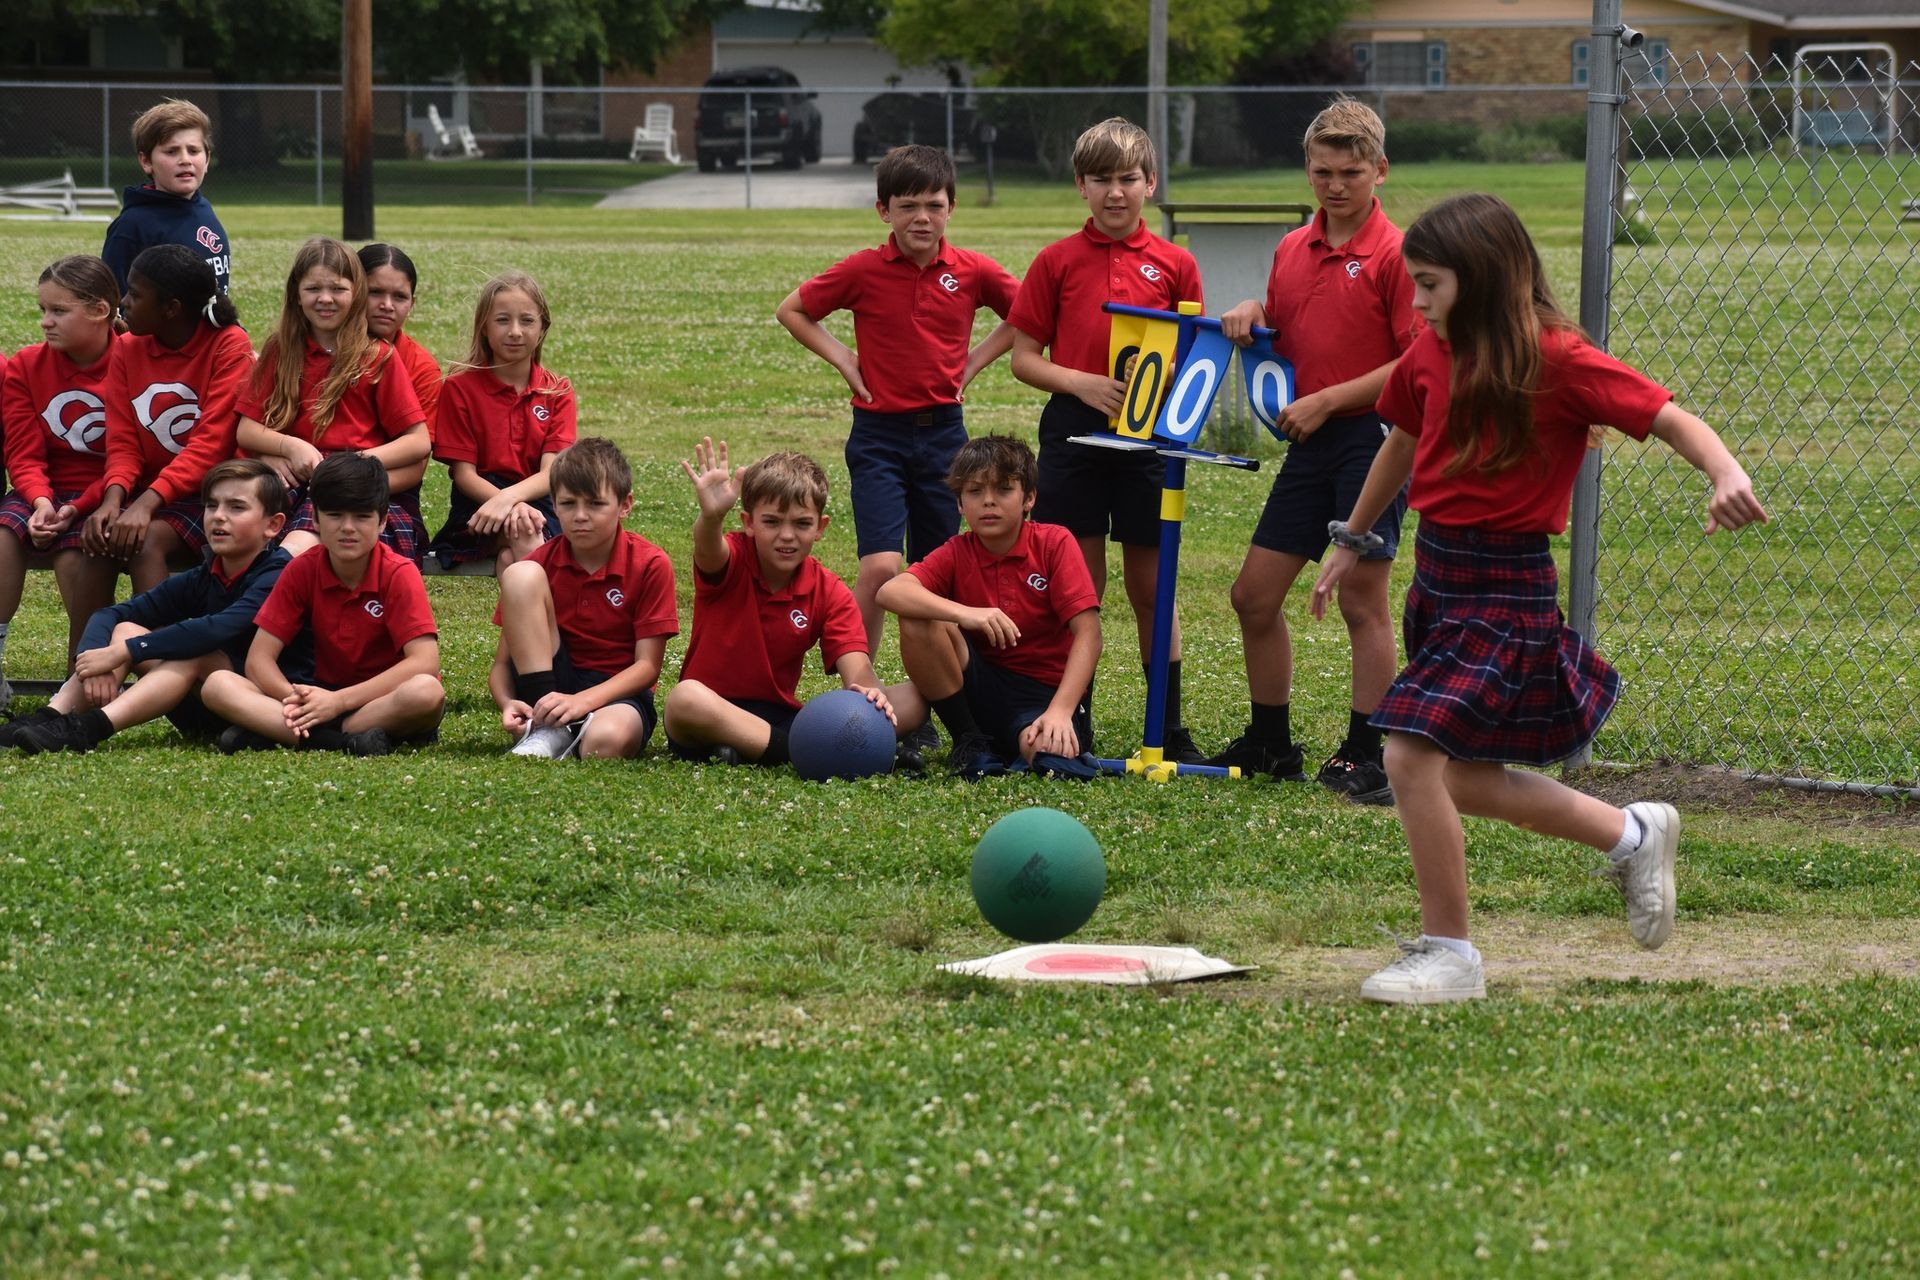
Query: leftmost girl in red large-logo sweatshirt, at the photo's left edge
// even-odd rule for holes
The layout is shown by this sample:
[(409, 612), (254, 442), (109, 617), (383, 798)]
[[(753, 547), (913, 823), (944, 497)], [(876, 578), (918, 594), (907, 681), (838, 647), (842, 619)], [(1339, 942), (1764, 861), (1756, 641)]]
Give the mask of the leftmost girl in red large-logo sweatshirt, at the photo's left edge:
[(113, 273), (73, 253), (40, 273), (44, 342), (21, 347), (0, 380), (0, 441), (13, 491), (0, 501), (0, 676), (6, 631), (27, 585), (27, 557), (52, 553), (67, 606), (67, 656), (94, 610), (113, 603), (119, 564), (86, 555), (81, 518), (106, 487), (108, 399), (113, 395)]

